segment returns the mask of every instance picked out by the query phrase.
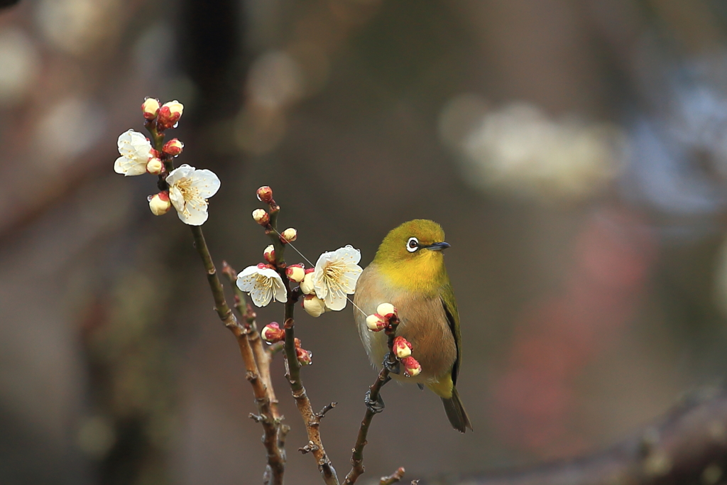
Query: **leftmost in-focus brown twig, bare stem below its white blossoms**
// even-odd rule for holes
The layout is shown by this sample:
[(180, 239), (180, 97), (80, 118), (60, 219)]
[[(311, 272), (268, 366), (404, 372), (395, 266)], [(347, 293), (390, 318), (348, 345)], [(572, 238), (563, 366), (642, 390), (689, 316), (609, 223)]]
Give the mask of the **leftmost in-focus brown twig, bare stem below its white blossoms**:
[[(268, 470), (265, 473), (265, 483), (282, 485), (285, 473), (285, 457), (284, 452), (281, 451), (280, 444), (281, 442), (284, 443), (285, 438), (284, 436), (282, 438), (278, 436), (278, 430), (281, 426), (279, 425), (279, 420), (276, 420), (273, 416), (272, 409), (270, 409), (268, 390), (260, 378), (260, 371), (255, 362), (254, 353), (248, 337), (249, 332), (252, 332), (252, 330), (249, 326), (246, 328), (239, 324), (225, 300), (222, 283), (220, 283), (220, 278), (217, 277), (217, 270), (214, 268), (212, 255), (209, 254), (202, 228), (198, 225), (190, 227), (192, 228), (192, 234), (194, 236), (194, 245), (199, 256), (202, 258), (204, 269), (207, 272), (207, 282), (209, 283), (209, 289), (212, 291), (212, 297), (214, 297), (214, 310), (217, 311), (217, 316), (220, 317), (222, 323), (235, 335), (242, 359), (245, 363), (246, 379), (252, 385), (257, 412), (260, 413), (260, 422), (262, 423), (264, 431), (262, 442), (268, 452)], [(267, 473), (268, 471), (270, 473)]]

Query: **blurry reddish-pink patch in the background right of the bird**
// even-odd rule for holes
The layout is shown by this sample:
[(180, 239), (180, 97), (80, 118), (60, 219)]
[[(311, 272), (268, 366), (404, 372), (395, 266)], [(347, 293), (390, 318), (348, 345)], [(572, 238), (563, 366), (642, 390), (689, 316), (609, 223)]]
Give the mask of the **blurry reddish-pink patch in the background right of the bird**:
[(500, 438), (558, 457), (589, 446), (571, 422), (574, 381), (621, 337), (645, 292), (656, 241), (630, 212), (595, 213), (577, 235), (562, 292), (536, 302), (515, 322), (515, 339), (495, 382)]

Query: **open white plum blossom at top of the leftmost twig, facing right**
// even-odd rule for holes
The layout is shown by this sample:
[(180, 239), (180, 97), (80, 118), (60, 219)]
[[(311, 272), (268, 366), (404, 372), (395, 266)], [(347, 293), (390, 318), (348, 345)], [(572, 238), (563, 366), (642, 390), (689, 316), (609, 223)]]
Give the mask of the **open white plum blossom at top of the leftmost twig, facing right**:
[(207, 198), (220, 189), (220, 179), (209, 170), (197, 170), (187, 164), (169, 172), (169, 200), (182, 223), (202, 225), (207, 220)]

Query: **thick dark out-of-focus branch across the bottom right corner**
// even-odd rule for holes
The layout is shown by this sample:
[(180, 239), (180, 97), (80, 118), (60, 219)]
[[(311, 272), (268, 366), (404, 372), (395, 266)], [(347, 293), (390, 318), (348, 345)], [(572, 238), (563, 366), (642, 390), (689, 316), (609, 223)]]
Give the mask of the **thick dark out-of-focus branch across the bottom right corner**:
[(718, 484), (727, 470), (727, 390), (693, 396), (611, 449), (526, 470), (422, 481), (422, 485)]

